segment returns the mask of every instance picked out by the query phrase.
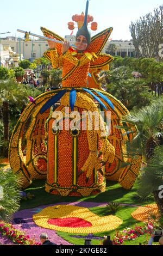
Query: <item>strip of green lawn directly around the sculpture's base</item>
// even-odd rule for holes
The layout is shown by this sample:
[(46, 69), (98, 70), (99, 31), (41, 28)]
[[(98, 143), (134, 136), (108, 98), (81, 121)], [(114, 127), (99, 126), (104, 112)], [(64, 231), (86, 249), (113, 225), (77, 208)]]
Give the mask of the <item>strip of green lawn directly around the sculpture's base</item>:
[(44, 180), (35, 180), (32, 185), (30, 185), (25, 191), (34, 194), (32, 200), (21, 201), (21, 208), (28, 209), (34, 208), (40, 205), (47, 205), (59, 202), (97, 202), (97, 203), (108, 203), (108, 202), (117, 202), (125, 204), (135, 204), (135, 205), (146, 205), (154, 203), (153, 197), (150, 197), (146, 200), (140, 200), (137, 196), (137, 184), (131, 190), (125, 190), (121, 185), (115, 181), (107, 181), (106, 191), (99, 193), (96, 196), (90, 197), (62, 197), (56, 196), (45, 192)]

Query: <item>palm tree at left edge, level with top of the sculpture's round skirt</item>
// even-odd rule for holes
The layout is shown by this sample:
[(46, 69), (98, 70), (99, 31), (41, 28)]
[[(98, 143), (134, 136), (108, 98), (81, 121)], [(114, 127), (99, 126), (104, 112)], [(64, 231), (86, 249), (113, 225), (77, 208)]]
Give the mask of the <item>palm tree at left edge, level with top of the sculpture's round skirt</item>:
[[(0, 123), (0, 155), (5, 156), (9, 145), (11, 133), (16, 125), (18, 118), (23, 109), (28, 105), (28, 96), (36, 97), (41, 94), (40, 90), (31, 88), (28, 85), (17, 84), (10, 80), (7, 83), (0, 83), (0, 107), (2, 107), (3, 126)], [(9, 113), (5, 113), (7, 110), (3, 105), (4, 102), (8, 104)], [(6, 114), (6, 115), (5, 115)], [(5, 115), (5, 118), (4, 118)], [(6, 127), (9, 126), (9, 131)], [(3, 127), (3, 132), (1, 128)]]

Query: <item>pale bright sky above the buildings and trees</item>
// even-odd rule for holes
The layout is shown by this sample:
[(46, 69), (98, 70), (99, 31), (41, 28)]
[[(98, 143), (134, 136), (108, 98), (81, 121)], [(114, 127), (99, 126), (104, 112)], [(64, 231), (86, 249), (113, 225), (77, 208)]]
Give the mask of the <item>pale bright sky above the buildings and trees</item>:
[[(86, 0), (1, 0), (0, 33), (9, 31), (11, 33), (8, 35), (23, 37), (23, 34), (16, 32), (19, 28), (42, 34), (40, 26), (43, 26), (61, 36), (70, 35), (67, 22), (72, 21), (72, 15), (85, 12), (85, 4)], [(93, 34), (113, 27), (110, 38), (129, 40), (130, 22), (153, 12), (153, 9), (159, 8), (161, 4), (162, 0), (90, 0), (89, 14), (98, 23), (98, 30)], [(76, 32), (77, 29), (74, 30), (74, 34)]]

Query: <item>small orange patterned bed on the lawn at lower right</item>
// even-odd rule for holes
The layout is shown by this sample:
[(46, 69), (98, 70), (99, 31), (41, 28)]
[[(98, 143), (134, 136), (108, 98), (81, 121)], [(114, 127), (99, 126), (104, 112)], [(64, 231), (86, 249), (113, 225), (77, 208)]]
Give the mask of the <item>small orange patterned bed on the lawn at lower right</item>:
[(148, 204), (146, 206), (140, 206), (136, 211), (131, 213), (131, 216), (142, 222), (154, 222), (159, 218), (158, 206), (156, 204)]

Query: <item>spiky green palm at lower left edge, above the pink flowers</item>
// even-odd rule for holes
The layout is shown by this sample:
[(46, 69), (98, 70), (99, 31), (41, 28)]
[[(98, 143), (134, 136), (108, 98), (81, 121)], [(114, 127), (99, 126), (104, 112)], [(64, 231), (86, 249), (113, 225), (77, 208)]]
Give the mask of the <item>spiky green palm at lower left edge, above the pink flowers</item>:
[(20, 189), (16, 175), (3, 167), (0, 164), (0, 221), (8, 222), (20, 208)]

